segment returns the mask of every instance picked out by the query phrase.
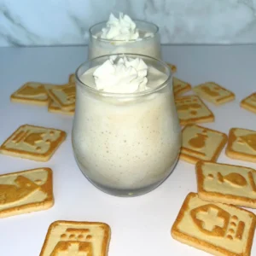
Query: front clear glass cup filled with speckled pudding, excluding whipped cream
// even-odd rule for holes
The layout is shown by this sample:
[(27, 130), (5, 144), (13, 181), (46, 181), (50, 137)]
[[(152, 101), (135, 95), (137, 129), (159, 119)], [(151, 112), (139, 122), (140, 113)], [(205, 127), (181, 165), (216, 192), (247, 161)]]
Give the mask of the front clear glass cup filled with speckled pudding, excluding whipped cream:
[(120, 94), (96, 90), (79, 79), (109, 56), (84, 62), (76, 71), (73, 152), (80, 170), (98, 189), (118, 196), (143, 195), (171, 174), (181, 147), (172, 75), (163, 61), (126, 55), (165, 73), (165, 83)]

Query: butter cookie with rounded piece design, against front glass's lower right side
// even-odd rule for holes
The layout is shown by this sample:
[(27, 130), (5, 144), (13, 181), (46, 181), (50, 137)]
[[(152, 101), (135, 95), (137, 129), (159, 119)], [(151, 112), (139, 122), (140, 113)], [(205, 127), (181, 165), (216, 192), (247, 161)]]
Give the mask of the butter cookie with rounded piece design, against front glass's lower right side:
[(191, 164), (199, 160), (216, 161), (227, 143), (227, 136), (199, 125), (186, 125), (182, 131), (180, 159)]

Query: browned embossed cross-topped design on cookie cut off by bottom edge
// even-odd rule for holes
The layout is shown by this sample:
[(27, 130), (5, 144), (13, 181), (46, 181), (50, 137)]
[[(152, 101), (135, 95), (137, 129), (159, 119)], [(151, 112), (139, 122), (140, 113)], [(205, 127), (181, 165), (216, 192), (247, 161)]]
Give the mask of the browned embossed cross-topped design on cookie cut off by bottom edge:
[(61, 241), (55, 245), (50, 256), (81, 255), (93, 256), (92, 236), (89, 229), (71, 229), (68, 228), (61, 234)]

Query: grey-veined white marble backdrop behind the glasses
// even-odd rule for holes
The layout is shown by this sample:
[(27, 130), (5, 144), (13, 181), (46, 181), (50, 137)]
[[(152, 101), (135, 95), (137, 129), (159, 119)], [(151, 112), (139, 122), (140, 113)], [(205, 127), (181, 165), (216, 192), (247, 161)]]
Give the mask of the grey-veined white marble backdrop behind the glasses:
[(160, 26), (162, 44), (256, 43), (256, 0), (0, 0), (0, 46), (87, 44), (119, 11)]

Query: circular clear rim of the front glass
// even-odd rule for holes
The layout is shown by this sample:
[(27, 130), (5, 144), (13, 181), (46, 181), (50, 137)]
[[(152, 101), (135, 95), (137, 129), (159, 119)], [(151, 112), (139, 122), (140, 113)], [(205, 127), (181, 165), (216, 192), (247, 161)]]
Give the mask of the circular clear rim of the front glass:
[[(90, 90), (91, 92), (97, 94), (97, 95), (100, 95), (100, 96), (112, 96), (112, 97), (139, 97), (139, 96), (147, 96), (147, 95), (150, 95), (158, 90), (161, 90), (163, 88), (166, 87), (166, 85), (168, 84), (169, 80), (172, 79), (172, 72), (171, 72), (171, 68), (166, 64), (165, 61), (161, 61), (159, 59), (156, 59), (154, 57), (150, 57), (148, 55), (138, 55), (138, 54), (130, 54), (130, 53), (120, 53), (120, 54), (115, 54), (115, 55), (131, 55), (134, 56), (135, 58), (137, 57), (146, 57), (146, 58), (149, 58), (151, 60), (154, 60), (154, 61), (157, 61), (158, 63), (160, 63), (160, 65), (162, 65), (163, 67), (166, 67), (166, 70), (168, 71), (167, 73), (167, 79), (165, 80), (165, 82), (159, 84), (157, 87), (155, 87), (154, 89), (151, 89), (151, 90), (143, 90), (143, 91), (137, 91), (137, 92), (130, 92), (130, 93), (119, 93), (119, 92), (108, 92), (108, 91), (104, 91), (104, 90), (97, 90), (96, 88), (93, 88), (87, 84), (85, 84), (84, 82), (81, 81), (81, 79), (79, 78), (79, 70), (81, 67), (84, 67), (86, 64), (90, 63), (91, 61), (96, 61), (98, 59), (101, 59), (101, 58), (106, 58), (106, 57), (110, 57), (110, 56), (113, 56), (112, 55), (101, 55), (101, 56), (98, 56), (96, 58), (93, 58), (91, 60), (88, 60), (88, 61), (84, 61), (82, 64), (79, 65), (79, 67), (76, 69), (75, 71), (75, 79), (77, 80), (77, 82), (79, 82), (79, 86), (81, 86), (82, 88), (84, 87), (86, 90)], [(146, 63), (147, 64), (147, 63)], [(87, 69), (89, 70), (89, 69)]]

